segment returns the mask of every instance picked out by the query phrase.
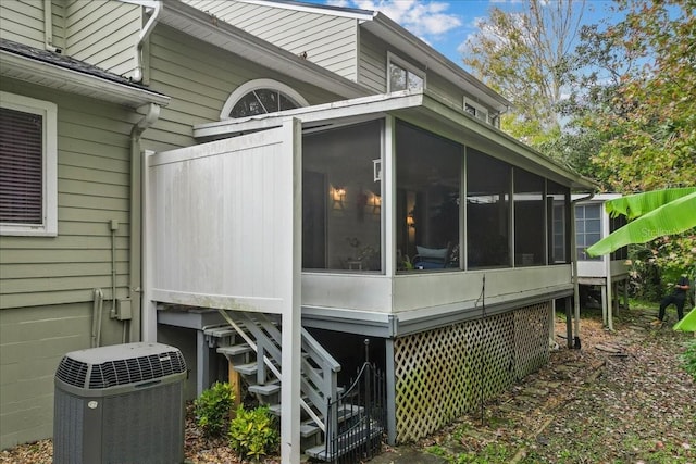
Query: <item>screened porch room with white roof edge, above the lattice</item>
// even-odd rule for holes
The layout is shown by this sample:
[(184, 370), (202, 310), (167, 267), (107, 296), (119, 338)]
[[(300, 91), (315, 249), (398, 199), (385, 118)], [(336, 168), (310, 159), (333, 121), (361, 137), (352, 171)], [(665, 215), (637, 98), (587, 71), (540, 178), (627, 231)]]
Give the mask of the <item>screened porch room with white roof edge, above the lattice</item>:
[(483, 275), (490, 308), (572, 290), (570, 192), (592, 181), (427, 92), (223, 121), (195, 136), (287, 117), (302, 124), (304, 318), (394, 336), (473, 308)]

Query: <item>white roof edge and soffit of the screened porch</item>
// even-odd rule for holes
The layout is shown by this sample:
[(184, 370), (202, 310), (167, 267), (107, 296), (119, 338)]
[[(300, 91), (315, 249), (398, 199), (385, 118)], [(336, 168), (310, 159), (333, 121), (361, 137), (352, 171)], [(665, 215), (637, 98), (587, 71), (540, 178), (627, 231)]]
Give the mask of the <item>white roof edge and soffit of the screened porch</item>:
[(194, 137), (204, 141), (278, 127), (288, 117), (297, 117), (302, 128), (330, 127), (391, 114), (444, 137), (457, 140), (510, 164), (543, 174), (561, 185), (582, 191), (598, 186), (533, 150), (494, 126), (436, 97), (408, 90), (298, 108), (278, 113), (200, 124)]

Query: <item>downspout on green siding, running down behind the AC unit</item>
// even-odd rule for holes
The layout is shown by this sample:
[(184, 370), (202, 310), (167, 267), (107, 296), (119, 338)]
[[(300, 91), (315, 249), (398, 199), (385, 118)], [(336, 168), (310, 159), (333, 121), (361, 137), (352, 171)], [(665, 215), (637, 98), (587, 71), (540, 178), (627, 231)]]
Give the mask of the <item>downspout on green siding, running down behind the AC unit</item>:
[[(146, 109), (130, 130), (130, 281), (128, 289), (133, 301), (133, 319), (130, 324), (130, 341), (141, 340), (142, 318), (142, 153), (140, 152), (140, 137), (160, 117), (160, 105), (150, 103), (140, 106)], [(140, 110), (138, 109), (138, 110)]]

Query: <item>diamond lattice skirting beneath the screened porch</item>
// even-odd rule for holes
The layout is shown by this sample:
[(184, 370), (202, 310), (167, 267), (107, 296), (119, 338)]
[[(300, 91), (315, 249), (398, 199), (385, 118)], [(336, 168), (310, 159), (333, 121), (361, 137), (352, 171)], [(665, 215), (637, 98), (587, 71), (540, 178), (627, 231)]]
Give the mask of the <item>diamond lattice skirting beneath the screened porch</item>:
[(397, 338), (397, 441), (425, 437), (548, 363), (549, 303)]

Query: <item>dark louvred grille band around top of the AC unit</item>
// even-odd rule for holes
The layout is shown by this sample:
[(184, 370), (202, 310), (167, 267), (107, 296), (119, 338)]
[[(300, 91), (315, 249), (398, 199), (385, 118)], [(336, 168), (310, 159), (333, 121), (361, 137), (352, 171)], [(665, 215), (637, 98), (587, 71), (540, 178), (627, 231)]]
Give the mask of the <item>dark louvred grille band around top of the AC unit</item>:
[[(70, 358), (63, 358), (55, 376), (65, 384), (85, 388), (88, 365)], [(89, 375), (90, 390), (154, 380), (186, 371), (184, 356), (179, 351), (113, 360), (94, 364)]]

